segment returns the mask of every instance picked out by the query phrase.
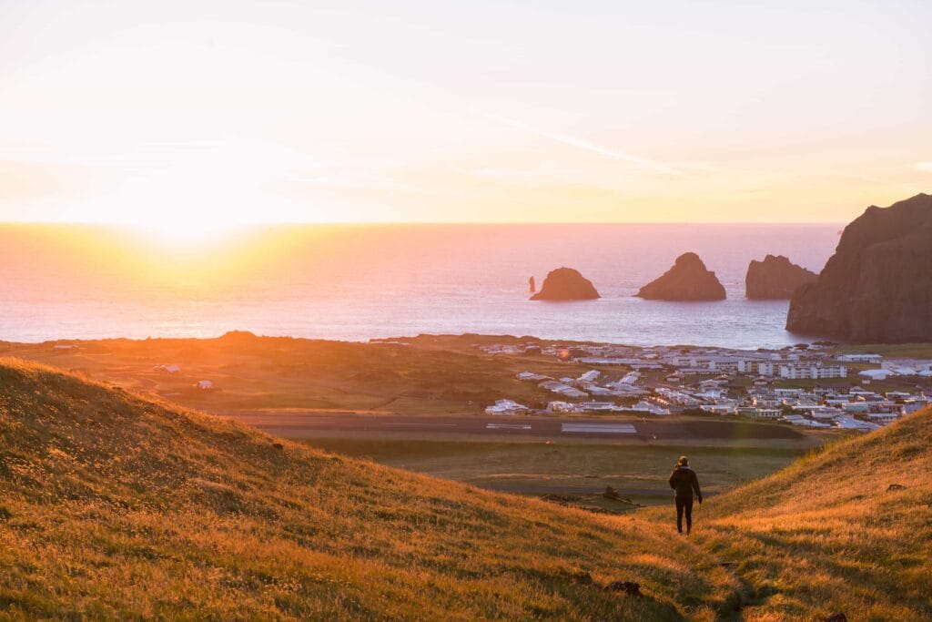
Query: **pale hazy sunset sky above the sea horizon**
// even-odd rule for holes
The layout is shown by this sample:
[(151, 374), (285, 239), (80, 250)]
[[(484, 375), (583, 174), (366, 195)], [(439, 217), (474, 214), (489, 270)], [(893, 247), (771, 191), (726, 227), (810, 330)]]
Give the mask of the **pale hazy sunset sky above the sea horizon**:
[(0, 220), (846, 221), (929, 191), (932, 3), (764, 4), (0, 0)]

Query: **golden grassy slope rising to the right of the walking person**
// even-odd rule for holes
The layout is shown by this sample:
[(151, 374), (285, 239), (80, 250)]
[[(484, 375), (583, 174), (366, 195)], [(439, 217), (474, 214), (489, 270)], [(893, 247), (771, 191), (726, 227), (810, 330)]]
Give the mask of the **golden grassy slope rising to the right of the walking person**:
[(699, 517), (698, 543), (747, 581), (746, 619), (932, 619), (932, 409), (710, 500)]

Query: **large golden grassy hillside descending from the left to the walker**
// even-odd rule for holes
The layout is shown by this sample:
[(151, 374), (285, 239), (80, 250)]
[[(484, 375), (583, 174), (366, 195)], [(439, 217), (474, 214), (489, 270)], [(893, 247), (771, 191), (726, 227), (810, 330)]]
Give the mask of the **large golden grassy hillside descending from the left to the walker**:
[(638, 518), (276, 447), (12, 360), (0, 567), (0, 615), (27, 617), (709, 619), (737, 587)]

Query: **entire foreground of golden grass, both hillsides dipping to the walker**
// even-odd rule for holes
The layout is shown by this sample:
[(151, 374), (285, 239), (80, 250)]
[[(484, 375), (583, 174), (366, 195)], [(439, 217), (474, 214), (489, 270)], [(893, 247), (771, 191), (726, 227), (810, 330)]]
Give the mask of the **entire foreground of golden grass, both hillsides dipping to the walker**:
[(671, 508), (593, 516), (0, 361), (0, 616), (930, 619), (930, 448), (925, 410), (709, 498), (684, 540)]

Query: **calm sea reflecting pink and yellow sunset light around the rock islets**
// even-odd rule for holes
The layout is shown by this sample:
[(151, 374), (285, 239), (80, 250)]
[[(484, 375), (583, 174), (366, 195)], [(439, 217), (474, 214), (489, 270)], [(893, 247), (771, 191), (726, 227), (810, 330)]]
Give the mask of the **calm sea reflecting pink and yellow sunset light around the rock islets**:
[[(788, 303), (748, 301), (752, 258), (821, 270), (838, 225), (413, 225), (260, 228), (185, 245), (89, 227), (0, 227), (0, 339), (261, 335), (363, 340), (535, 335), (636, 345), (780, 347)], [(720, 302), (632, 297), (685, 251)], [(600, 300), (528, 301), (569, 266)]]

